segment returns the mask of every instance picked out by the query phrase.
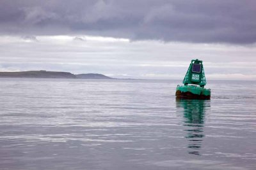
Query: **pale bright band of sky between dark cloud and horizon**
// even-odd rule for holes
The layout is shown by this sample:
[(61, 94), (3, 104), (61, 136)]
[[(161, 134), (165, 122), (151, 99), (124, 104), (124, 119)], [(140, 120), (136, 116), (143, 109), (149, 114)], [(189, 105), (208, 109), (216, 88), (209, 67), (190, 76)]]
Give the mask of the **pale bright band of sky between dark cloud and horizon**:
[(254, 44), (167, 43), (84, 35), (0, 36), (0, 52), (0, 71), (43, 69), (182, 80), (191, 59), (200, 59), (207, 80), (256, 80)]

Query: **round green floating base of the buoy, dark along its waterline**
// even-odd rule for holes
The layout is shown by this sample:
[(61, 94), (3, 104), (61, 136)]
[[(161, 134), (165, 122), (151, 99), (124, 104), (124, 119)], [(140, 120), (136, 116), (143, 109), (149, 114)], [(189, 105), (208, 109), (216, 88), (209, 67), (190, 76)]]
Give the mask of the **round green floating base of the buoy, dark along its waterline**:
[(211, 89), (204, 89), (195, 85), (177, 86), (175, 96), (186, 99), (211, 99)]

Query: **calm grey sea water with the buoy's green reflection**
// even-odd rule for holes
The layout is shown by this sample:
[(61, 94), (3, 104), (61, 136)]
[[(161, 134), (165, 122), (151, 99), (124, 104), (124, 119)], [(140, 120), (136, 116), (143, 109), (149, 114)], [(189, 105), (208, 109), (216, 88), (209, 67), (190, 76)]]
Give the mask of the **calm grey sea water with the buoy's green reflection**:
[(0, 169), (256, 169), (256, 82), (0, 79)]

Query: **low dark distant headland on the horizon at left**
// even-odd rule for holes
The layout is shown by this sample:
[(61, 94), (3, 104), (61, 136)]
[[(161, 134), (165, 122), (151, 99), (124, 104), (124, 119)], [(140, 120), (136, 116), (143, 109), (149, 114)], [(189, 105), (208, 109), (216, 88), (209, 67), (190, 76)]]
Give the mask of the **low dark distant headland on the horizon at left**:
[(114, 79), (103, 74), (72, 74), (60, 71), (19, 71), (0, 72), (0, 78), (77, 78), (77, 79)]

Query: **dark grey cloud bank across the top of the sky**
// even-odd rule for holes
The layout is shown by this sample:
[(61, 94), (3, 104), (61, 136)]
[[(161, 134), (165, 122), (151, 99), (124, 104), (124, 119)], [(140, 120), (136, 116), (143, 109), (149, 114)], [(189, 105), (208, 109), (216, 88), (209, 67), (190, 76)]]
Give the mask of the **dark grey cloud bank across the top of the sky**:
[(0, 34), (90, 34), (192, 43), (256, 42), (256, 1), (1, 1)]

